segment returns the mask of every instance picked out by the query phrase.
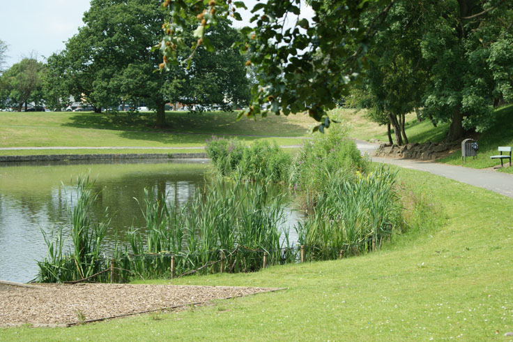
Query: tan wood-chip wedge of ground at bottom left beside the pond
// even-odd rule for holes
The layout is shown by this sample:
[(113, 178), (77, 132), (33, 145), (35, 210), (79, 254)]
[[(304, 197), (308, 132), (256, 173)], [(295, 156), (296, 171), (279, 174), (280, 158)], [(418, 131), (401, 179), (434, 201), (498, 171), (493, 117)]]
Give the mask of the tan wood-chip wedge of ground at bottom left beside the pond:
[(0, 285), (0, 326), (67, 326), (135, 313), (206, 304), (277, 288), (224, 286), (43, 284), (40, 289)]

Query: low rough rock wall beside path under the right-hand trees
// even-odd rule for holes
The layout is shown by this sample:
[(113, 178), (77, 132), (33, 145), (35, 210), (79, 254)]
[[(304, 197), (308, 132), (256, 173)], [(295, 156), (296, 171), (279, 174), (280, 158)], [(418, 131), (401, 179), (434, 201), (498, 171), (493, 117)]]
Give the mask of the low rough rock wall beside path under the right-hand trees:
[(396, 144), (381, 144), (374, 153), (374, 156), (387, 158), (404, 158), (404, 159), (422, 159), (424, 161), (433, 161), (436, 158), (446, 156), (450, 151), (450, 144), (436, 144), (434, 142), (426, 142), (424, 144), (406, 144), (397, 146)]

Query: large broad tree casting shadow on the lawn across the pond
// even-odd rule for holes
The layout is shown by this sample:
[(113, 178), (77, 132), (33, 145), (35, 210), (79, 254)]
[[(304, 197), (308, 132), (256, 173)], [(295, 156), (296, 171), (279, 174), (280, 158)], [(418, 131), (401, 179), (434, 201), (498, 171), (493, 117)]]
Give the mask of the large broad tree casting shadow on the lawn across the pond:
[(164, 15), (158, 0), (91, 1), (84, 27), (68, 40), (64, 52), (63, 77), (70, 93), (97, 109), (116, 106), (121, 99), (144, 102), (156, 110), (159, 127), (167, 125), (167, 101), (247, 101), (236, 89), (247, 87), (247, 80), (243, 57), (231, 48), (236, 30), (227, 21), (211, 33), (216, 56), (201, 57), (201, 48), (190, 70), (176, 66), (171, 73), (155, 73), (162, 55), (151, 46), (161, 35)]

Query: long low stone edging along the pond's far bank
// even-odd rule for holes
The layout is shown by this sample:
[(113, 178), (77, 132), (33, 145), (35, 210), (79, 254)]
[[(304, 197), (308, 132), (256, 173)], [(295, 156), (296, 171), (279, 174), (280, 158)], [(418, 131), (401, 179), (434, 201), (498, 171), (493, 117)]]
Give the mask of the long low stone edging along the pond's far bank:
[(0, 156), (0, 163), (20, 161), (95, 161), (126, 159), (207, 159), (206, 153), (169, 154), (40, 154), (30, 156)]

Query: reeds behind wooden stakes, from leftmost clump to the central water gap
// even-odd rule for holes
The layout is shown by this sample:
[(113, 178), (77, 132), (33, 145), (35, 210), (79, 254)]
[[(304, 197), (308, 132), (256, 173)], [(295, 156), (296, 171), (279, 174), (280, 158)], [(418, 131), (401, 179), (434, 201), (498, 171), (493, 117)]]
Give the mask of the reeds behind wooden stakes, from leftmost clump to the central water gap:
[[(171, 255), (178, 276), (220, 272), (221, 268), (225, 272), (257, 271), (263, 267), (264, 253), (268, 265), (297, 258), (298, 248), (289, 243), (288, 229), (282, 228), (284, 194), (270, 191), (268, 184), (211, 181), (203, 191), (198, 189), (194, 200), (183, 208), (174, 207), (164, 198), (153, 198), (153, 191), (147, 189), (141, 202), (145, 226), (132, 227), (128, 244), (116, 242), (112, 258), (101, 256), (105, 255), (101, 245), (107, 221), (95, 225), (87, 215), (96, 195), (85, 181), (79, 188), (81, 195), (71, 216), (73, 248), (63, 253), (62, 230), (53, 240), (45, 236), (49, 254), (38, 263), (38, 281), (169, 277)], [(108, 272), (111, 260), (114, 278)], [(77, 265), (77, 272), (73, 265)]]

